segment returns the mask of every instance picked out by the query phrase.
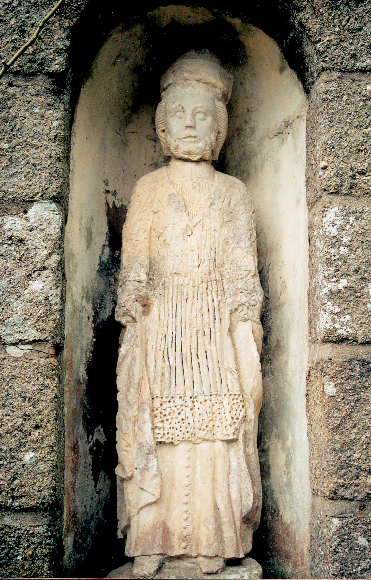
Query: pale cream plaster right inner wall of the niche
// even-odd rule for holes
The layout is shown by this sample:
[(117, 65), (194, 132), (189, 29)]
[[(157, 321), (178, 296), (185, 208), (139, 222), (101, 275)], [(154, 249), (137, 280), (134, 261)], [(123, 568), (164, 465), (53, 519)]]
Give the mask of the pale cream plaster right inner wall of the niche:
[[(237, 26), (237, 23), (236, 23)], [(234, 75), (226, 171), (243, 180), (256, 215), (262, 310), (262, 559), (272, 577), (310, 574), (311, 493), (305, 407), (308, 364), (306, 97), (276, 42), (240, 27), (247, 62)], [(295, 314), (293, 314), (295, 313)], [(260, 538), (259, 538), (260, 539)]]

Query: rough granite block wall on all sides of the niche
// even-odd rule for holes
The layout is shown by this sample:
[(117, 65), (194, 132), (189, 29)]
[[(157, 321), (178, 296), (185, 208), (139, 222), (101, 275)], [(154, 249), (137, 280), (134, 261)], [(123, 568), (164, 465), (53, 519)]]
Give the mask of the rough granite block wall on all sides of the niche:
[[(27, 40), (53, 3), (3, 1), (0, 60)], [(61, 570), (62, 248), (71, 119), (83, 77), (106, 35), (157, 8), (153, 2), (139, 9), (117, 4), (65, 2), (0, 81), (0, 575), (50, 576)], [(205, 12), (192, 10), (196, 16)], [(369, 578), (370, 3), (275, 1), (248, 12), (230, 2), (228, 17), (237, 16), (277, 41), (309, 99), (311, 573)], [(91, 419), (87, 401), (80, 403)], [(67, 429), (80, 420), (78, 403), (69, 408)], [(93, 419), (94, 433), (99, 418)], [(79, 425), (87, 429), (86, 423)], [(91, 441), (95, 456), (101, 440)], [(73, 480), (77, 456), (71, 449)], [(99, 474), (92, 481), (97, 491)], [(267, 573), (303, 577), (295, 553), (285, 551), (287, 526), (279, 508), (271, 505), (269, 513)], [(91, 522), (104, 517), (100, 510), (87, 513), (86, 538)], [(74, 525), (73, 517), (68, 525)], [(76, 562), (70, 561), (69, 573), (77, 573)], [(97, 560), (92, 562), (87, 575), (94, 565), (97, 571)], [(115, 562), (104, 565), (108, 571)]]

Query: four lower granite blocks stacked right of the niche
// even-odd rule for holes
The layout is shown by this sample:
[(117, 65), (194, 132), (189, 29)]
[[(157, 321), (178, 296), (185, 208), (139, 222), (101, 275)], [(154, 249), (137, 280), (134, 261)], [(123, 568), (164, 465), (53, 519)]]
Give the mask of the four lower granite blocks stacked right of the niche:
[(307, 120), (313, 578), (371, 570), (370, 121), (369, 73), (319, 75)]

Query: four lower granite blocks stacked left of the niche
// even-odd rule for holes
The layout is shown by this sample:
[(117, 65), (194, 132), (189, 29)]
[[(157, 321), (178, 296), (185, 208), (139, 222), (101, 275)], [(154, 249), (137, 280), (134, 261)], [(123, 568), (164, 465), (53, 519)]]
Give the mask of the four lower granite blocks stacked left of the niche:
[(0, 92), (0, 575), (60, 570), (68, 103), (46, 75)]

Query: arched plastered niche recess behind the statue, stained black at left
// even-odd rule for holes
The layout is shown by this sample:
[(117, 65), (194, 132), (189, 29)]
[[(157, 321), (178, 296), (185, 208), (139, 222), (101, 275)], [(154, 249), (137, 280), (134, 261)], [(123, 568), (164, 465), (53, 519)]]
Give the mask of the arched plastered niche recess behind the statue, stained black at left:
[(116, 28), (76, 107), (65, 232), (65, 564), (74, 574), (104, 575), (123, 563), (115, 477), (120, 230), (135, 181), (166, 163), (154, 125), (159, 79), (190, 48), (211, 50), (234, 75), (229, 133), (217, 168), (247, 183), (256, 212), (266, 299), (263, 511), (255, 557), (278, 577), (307, 577), (306, 98), (264, 32), (183, 6), (159, 8), (133, 27)]

